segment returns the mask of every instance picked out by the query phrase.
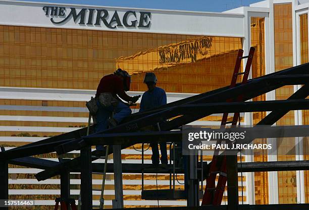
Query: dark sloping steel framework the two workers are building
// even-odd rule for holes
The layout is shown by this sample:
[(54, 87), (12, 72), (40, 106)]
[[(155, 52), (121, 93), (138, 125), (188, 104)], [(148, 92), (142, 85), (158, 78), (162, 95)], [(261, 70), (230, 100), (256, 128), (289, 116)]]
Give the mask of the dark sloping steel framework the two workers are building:
[[(259, 125), (273, 125), (290, 110), (305, 110), (309, 108), (309, 63), (294, 66), (280, 72), (248, 80), (245, 84), (236, 84), (235, 87), (223, 87), (207, 93), (195, 95), (186, 99), (175, 101), (149, 111), (134, 113), (125, 118), (121, 124), (107, 130), (94, 133), (90, 126), (89, 135), (87, 128), (81, 128), (72, 132), (46, 138), (42, 141), (17, 147), (8, 151), (1, 148), (0, 152), (0, 199), (8, 199), (8, 164), (43, 169), (35, 175), (38, 181), (46, 180), (56, 175), (61, 177), (61, 198), (70, 198), (70, 172), (81, 173), (81, 209), (92, 209), (92, 172), (102, 172), (103, 164), (92, 163), (99, 157), (114, 150), (128, 148), (135, 144), (146, 144), (152, 142), (180, 143), (182, 140), (181, 126), (200, 118), (217, 113), (237, 112), (263, 112), (270, 113), (262, 119)], [(275, 101), (248, 101), (254, 97), (274, 91), (286, 85), (302, 85), (302, 87), (286, 100)], [(242, 95), (240, 102), (236, 99)], [(226, 102), (226, 101), (232, 102)], [(170, 119), (170, 120), (169, 120)], [(151, 131), (145, 131), (145, 127)], [(283, 126), (285, 129), (296, 129), (303, 136), (308, 136), (309, 129), (306, 126)], [(274, 129), (274, 128), (272, 128)], [(280, 129), (280, 127), (277, 127)], [(273, 133), (273, 134), (271, 134)], [(258, 137), (283, 137), (280, 132), (261, 133)], [(270, 136), (271, 135), (271, 136)], [(295, 134), (290, 134), (294, 135)], [(253, 139), (251, 139), (252, 141)], [(105, 145), (101, 151), (91, 152), (91, 146)], [(116, 146), (116, 147), (115, 147)], [(117, 148), (117, 149), (116, 149)], [(74, 150), (80, 150), (80, 157), (59, 162), (31, 157), (34, 155), (57, 152), (58, 155), (66, 154)], [(207, 162), (197, 163), (196, 158), (189, 158), (187, 171), (188, 190), (185, 194), (188, 207), (177, 207), (177, 209), (309, 209), (308, 204), (272, 204), (272, 205), (242, 205), (238, 204), (238, 172), (256, 171), (290, 171), (308, 170), (309, 161), (283, 161), (283, 162), (252, 162), (242, 163), (241, 167), (234, 158), (234, 163), (227, 168), (228, 203), (227, 205), (199, 206), (199, 182), (205, 180), (208, 175), (209, 164)], [(236, 160), (236, 162), (235, 162)], [(149, 164), (126, 164), (119, 161), (118, 176), (122, 172), (142, 173), (144, 167)], [(107, 164), (107, 172), (114, 171), (114, 164)], [(173, 166), (174, 167), (174, 166)], [(202, 168), (203, 175), (197, 175), (197, 169)], [(171, 168), (158, 172), (157, 169), (147, 169), (147, 173), (170, 173)], [(186, 173), (184, 168), (174, 167), (174, 173)], [(121, 179), (121, 178), (120, 178)], [(119, 186), (122, 188), (122, 186)], [(115, 189), (121, 190), (121, 189)], [(119, 191), (118, 191), (119, 192)], [(116, 192), (117, 193), (117, 192)], [(163, 193), (162, 196), (166, 196)], [(181, 193), (180, 193), (181, 194)], [(175, 194), (173, 195), (175, 197)], [(176, 196), (177, 197), (177, 196)], [(183, 197), (183, 194), (179, 195)], [(122, 206), (123, 205), (115, 205)], [(6, 209), (6, 208), (4, 208)], [(144, 209), (144, 208), (142, 208)], [(175, 209), (167, 207), (165, 209)]]

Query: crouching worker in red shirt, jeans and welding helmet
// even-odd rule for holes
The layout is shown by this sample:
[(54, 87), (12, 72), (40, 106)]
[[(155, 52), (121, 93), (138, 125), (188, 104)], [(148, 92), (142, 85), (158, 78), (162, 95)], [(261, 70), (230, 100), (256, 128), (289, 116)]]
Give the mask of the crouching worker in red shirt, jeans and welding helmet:
[[(131, 114), (130, 107), (119, 99), (135, 103), (140, 97), (131, 97), (126, 94), (126, 91), (130, 90), (130, 82), (130, 75), (121, 68), (118, 68), (114, 74), (104, 76), (100, 80), (95, 94), (98, 106), (95, 132), (105, 130), (109, 126), (116, 126), (123, 118)], [(115, 113), (113, 117), (111, 117), (112, 112)]]

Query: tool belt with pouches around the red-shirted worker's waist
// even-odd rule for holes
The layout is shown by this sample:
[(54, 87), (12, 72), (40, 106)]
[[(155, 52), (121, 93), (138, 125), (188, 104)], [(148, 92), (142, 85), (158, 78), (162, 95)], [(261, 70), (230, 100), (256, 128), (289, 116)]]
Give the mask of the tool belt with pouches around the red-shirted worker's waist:
[(96, 99), (91, 97), (91, 100), (86, 102), (86, 106), (92, 116), (95, 116), (98, 110), (97, 102), (99, 102), (102, 107), (116, 107), (119, 103), (119, 99), (113, 96), (112, 93), (101, 93)]

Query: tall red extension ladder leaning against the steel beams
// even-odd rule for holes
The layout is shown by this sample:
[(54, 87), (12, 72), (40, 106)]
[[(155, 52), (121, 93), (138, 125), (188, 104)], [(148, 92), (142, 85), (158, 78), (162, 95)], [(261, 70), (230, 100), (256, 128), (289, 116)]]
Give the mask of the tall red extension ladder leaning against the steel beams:
[[(236, 63), (235, 63), (235, 68), (234, 68), (234, 73), (233, 73), (230, 88), (233, 88), (233, 87), (236, 86), (237, 77), (239, 75), (243, 75), (241, 84), (245, 84), (247, 82), (249, 72), (250, 72), (251, 63), (252, 63), (252, 59), (253, 59), (254, 50), (255, 50), (254, 47), (250, 47), (249, 55), (247, 55), (247, 56), (242, 56), (242, 54), (243, 54), (242, 49), (238, 50), (238, 55), (237, 55), (237, 58), (236, 58)], [(239, 73), (239, 67), (240, 67), (240, 64), (241, 64), (241, 60), (243, 58), (248, 58), (247, 63), (246, 63), (246, 67), (245, 67), (245, 71)], [(242, 100), (243, 100), (243, 95), (240, 95), (236, 99), (236, 101), (242, 101)], [(232, 100), (231, 99), (227, 100), (227, 102), (232, 102)], [(229, 113), (223, 114), (222, 121), (221, 121), (221, 127), (223, 127), (223, 128), (225, 127), (226, 124), (229, 124), (229, 123), (231, 123), (232, 125), (236, 125), (238, 119), (240, 119), (239, 113), (234, 113), (233, 120), (227, 121), (228, 114)], [(227, 182), (226, 156), (223, 157), (221, 166), (218, 166), (219, 161), (221, 161), (221, 160), (219, 160), (218, 155), (219, 155), (219, 150), (215, 150), (213, 160), (212, 160), (212, 163), (211, 163), (211, 167), (210, 167), (210, 174), (207, 178), (207, 183), (206, 183), (206, 186), (205, 186), (205, 192), (204, 192), (204, 195), (203, 195), (201, 205), (220, 205), (221, 202), (222, 202), (223, 193), (224, 193), (225, 185), (226, 185), (226, 182)], [(218, 179), (218, 183), (217, 183), (217, 187), (216, 187), (215, 181), (216, 181), (217, 173), (219, 173), (219, 179)]]

